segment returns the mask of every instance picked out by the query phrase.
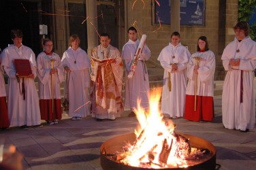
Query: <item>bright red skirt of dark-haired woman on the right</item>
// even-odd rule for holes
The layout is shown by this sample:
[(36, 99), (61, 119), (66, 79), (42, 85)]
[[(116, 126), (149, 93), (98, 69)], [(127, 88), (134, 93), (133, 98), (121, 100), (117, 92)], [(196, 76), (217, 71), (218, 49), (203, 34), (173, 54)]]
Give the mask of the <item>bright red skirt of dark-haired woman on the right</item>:
[(186, 95), (184, 118), (192, 121), (212, 121), (214, 118), (213, 97), (197, 96), (197, 109), (195, 109), (195, 96)]

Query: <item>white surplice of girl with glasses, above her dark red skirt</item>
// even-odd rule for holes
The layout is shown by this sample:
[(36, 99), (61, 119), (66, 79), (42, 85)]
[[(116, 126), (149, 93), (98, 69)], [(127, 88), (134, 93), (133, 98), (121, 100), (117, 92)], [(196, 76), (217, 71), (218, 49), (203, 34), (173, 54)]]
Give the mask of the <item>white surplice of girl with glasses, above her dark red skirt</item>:
[[(58, 73), (54, 73), (54, 99), (61, 99), (61, 82), (64, 81), (64, 70), (61, 58), (57, 53), (52, 53), (54, 69)], [(50, 58), (45, 52), (41, 52), (37, 56), (37, 77), (39, 88), (39, 99), (52, 99), (52, 75), (50, 75)]]

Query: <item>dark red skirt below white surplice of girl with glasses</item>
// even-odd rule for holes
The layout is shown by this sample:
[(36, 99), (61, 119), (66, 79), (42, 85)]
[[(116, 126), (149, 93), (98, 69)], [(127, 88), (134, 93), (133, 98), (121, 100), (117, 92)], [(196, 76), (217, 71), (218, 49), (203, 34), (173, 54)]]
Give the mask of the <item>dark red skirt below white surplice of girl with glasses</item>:
[(52, 114), (52, 99), (40, 99), (39, 105), (42, 120), (61, 120), (61, 99), (54, 99), (54, 114)]

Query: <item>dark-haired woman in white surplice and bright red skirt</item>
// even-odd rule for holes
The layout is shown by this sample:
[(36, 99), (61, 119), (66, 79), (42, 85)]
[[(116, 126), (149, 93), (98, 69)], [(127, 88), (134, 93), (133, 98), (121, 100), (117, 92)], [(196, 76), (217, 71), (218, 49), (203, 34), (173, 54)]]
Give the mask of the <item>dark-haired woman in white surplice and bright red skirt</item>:
[[(195, 57), (199, 57), (197, 58), (198, 61)], [(205, 36), (199, 37), (197, 52), (191, 55), (187, 65), (189, 83), (186, 91), (185, 119), (201, 122), (213, 120), (215, 65), (215, 56), (208, 48), (207, 38)]]

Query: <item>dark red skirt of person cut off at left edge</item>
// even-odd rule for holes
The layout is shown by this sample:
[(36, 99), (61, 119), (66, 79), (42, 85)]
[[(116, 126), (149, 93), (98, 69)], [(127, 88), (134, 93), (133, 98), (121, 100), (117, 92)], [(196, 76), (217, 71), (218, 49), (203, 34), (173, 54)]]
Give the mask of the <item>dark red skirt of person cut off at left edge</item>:
[(0, 110), (0, 129), (4, 129), (10, 126), (6, 97), (0, 97)]

